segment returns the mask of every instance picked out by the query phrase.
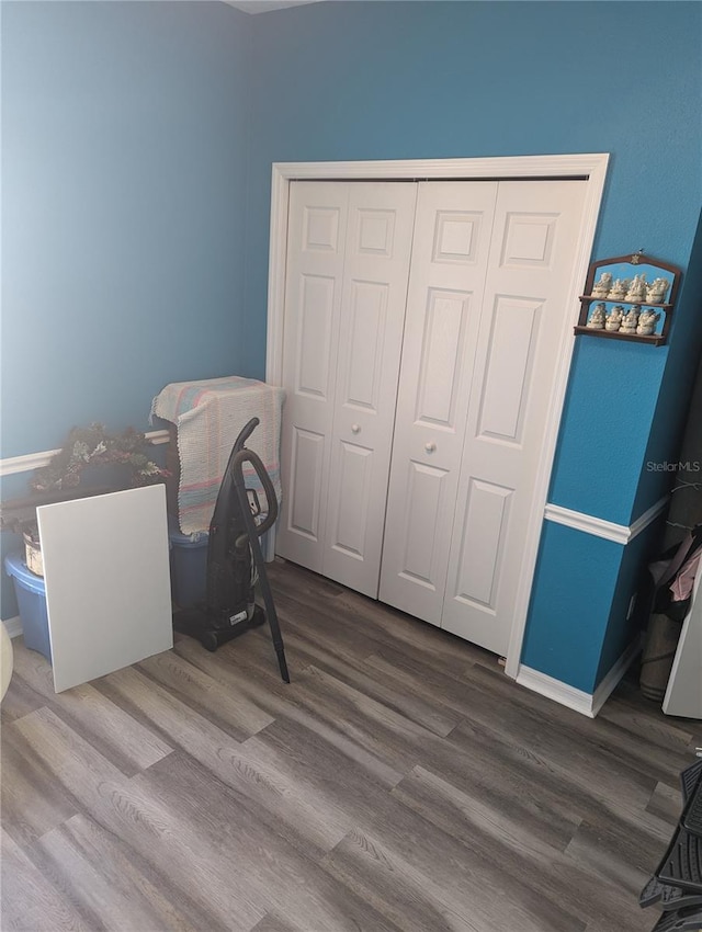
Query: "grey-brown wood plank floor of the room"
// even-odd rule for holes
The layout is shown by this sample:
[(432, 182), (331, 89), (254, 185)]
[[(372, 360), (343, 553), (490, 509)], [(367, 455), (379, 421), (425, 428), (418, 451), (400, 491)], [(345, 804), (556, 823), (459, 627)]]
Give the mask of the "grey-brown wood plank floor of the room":
[(596, 720), (292, 565), (268, 628), (55, 695), (14, 641), (4, 932), (646, 932), (702, 723)]

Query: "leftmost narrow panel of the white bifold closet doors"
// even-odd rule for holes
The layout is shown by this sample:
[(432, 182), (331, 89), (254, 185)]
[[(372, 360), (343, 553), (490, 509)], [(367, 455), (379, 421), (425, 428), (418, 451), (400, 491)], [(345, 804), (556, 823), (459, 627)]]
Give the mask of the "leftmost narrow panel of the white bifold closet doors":
[(339, 310), (349, 205), (344, 182), (291, 184), (276, 552), (321, 572)]

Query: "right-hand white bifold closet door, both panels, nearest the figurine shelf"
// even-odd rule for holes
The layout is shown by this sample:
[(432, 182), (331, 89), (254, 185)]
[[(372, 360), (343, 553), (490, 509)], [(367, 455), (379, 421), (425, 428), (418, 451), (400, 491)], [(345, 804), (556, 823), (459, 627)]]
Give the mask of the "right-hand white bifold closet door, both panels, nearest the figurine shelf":
[(419, 192), (380, 594), (497, 653), (569, 338), (585, 189)]

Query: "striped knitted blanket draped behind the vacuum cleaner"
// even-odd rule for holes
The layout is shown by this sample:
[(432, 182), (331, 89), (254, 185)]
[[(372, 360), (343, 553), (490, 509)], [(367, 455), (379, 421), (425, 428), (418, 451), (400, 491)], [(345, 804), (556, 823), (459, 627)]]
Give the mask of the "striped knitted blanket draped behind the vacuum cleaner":
[[(251, 418), (261, 423), (247, 447), (261, 457), (281, 501), (280, 435), (282, 388), (253, 378), (231, 376), (202, 382), (174, 382), (156, 396), (156, 414), (178, 427), (180, 486), (179, 523), (183, 534), (210, 530), (217, 492), (234, 442)], [(261, 490), (252, 467), (244, 475), (248, 488)], [(259, 496), (263, 511), (265, 496)]]

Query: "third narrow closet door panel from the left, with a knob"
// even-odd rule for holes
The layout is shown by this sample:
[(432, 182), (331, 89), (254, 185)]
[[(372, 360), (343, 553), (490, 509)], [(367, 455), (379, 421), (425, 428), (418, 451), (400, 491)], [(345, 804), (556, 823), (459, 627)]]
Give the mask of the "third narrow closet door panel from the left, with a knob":
[(419, 185), (380, 598), (439, 625), (498, 185)]

